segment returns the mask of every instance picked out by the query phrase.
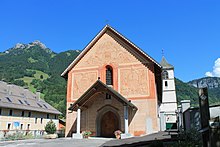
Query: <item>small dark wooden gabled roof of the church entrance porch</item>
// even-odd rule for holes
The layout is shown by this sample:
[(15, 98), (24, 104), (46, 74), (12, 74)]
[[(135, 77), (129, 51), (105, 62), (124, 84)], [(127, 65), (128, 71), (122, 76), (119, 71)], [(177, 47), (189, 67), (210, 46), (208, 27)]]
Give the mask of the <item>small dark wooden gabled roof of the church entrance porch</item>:
[(98, 92), (108, 92), (111, 94), (114, 98), (116, 98), (118, 101), (120, 101), (123, 104), (126, 104), (130, 106), (133, 109), (137, 110), (137, 107), (131, 103), (131, 101), (128, 101), (126, 98), (124, 98), (120, 93), (115, 91), (113, 88), (107, 86), (100, 80), (97, 80), (79, 99), (77, 99), (69, 108), (68, 110), (76, 111), (77, 107), (83, 107), (89, 99)]

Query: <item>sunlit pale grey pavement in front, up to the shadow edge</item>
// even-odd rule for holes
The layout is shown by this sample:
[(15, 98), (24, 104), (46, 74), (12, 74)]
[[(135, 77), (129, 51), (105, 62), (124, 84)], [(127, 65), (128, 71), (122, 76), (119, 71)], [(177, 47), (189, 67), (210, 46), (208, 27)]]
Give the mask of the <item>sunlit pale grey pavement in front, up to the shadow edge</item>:
[(98, 147), (109, 141), (108, 138), (101, 139), (34, 139), (0, 142), (5, 147)]

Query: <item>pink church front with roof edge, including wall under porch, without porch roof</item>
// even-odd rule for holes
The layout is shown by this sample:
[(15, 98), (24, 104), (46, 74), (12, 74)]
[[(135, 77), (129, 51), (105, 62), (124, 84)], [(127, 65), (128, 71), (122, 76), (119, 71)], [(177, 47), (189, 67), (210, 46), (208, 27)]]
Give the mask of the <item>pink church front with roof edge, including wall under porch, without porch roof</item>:
[[(106, 67), (112, 68), (112, 88), (138, 109), (129, 109), (129, 133), (140, 136), (159, 131), (157, 78), (160, 66), (117, 31), (106, 26), (64, 71), (67, 77), (66, 135), (76, 130), (76, 112), (70, 113), (70, 104), (77, 101), (99, 78), (106, 84)], [(112, 97), (106, 103), (105, 95), (94, 94), (88, 99), (81, 114), (81, 131), (91, 130), (96, 136), (98, 111), (105, 107), (117, 110), (120, 130), (124, 131), (123, 103)], [(98, 130), (100, 132), (100, 130)], [(114, 131), (114, 130), (113, 130)], [(101, 134), (101, 133), (100, 133)], [(100, 136), (99, 134), (99, 136)]]

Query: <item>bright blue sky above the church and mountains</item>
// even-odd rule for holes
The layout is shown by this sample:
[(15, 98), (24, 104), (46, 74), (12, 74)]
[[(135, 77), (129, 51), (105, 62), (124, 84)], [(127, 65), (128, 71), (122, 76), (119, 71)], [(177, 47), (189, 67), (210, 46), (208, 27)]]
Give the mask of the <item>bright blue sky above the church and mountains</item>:
[(220, 77), (219, 0), (1, 0), (0, 52), (40, 40), (54, 52), (82, 50), (106, 25), (175, 77)]

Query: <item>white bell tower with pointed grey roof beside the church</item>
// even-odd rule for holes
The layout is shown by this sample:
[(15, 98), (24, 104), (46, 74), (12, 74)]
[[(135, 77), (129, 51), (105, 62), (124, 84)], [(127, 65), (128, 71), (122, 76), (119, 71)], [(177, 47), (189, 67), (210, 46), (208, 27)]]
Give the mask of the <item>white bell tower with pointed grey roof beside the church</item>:
[(162, 57), (162, 103), (160, 105), (161, 131), (177, 128), (177, 100), (174, 78), (174, 67)]

